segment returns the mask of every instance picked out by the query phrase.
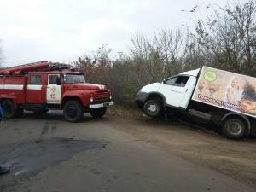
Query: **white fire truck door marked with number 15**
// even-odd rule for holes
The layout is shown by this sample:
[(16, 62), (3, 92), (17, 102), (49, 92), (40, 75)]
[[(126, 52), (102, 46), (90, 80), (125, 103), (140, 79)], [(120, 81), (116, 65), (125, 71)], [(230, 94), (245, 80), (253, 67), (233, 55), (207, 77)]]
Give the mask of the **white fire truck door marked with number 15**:
[(49, 74), (46, 100), (48, 104), (61, 104), (60, 74)]

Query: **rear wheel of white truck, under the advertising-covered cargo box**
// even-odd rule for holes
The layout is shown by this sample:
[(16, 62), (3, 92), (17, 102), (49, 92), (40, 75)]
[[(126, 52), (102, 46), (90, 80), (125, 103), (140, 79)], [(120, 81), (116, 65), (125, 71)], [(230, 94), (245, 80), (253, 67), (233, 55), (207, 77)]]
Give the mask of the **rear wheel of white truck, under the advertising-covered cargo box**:
[(222, 133), (230, 139), (241, 139), (245, 137), (247, 126), (240, 119), (227, 119), (224, 121)]

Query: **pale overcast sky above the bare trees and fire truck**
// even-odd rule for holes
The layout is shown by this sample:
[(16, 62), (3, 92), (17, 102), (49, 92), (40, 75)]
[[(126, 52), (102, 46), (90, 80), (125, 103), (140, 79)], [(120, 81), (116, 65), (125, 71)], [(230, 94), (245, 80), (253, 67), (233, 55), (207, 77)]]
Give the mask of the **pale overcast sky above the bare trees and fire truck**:
[[(221, 4), (221, 0), (213, 0)], [(131, 34), (191, 25), (182, 9), (202, 0), (0, 0), (0, 44), (5, 66), (73, 61), (108, 43), (125, 51)]]

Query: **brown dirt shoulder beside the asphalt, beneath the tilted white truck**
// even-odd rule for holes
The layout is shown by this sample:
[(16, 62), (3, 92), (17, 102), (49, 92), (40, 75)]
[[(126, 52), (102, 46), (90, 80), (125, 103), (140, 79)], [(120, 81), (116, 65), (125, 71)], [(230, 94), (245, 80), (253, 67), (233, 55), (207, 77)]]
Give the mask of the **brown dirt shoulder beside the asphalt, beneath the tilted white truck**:
[(116, 129), (134, 134), (172, 154), (256, 188), (255, 138), (232, 141), (207, 130), (207, 127), (150, 119), (137, 110), (123, 111), (122, 108), (115, 108), (109, 111), (108, 116)]

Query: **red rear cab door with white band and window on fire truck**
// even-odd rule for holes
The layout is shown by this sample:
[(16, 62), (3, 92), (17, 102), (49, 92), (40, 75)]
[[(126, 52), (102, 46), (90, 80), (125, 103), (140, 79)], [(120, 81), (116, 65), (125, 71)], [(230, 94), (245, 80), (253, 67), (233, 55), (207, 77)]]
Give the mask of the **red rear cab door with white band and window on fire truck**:
[(43, 103), (42, 75), (29, 75), (26, 87), (27, 103)]

